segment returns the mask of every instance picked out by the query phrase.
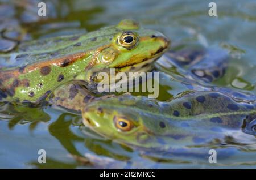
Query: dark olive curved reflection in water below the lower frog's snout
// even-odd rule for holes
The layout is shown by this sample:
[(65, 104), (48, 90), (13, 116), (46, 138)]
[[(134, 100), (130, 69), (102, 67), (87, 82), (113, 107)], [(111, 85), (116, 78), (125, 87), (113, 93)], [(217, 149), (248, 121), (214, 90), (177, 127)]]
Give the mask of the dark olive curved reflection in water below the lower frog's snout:
[[(73, 126), (73, 118), (76, 117), (77, 115), (74, 114), (63, 113), (55, 122), (52, 122), (48, 127), (49, 133), (57, 140), (59, 140), (61, 145), (63, 145), (63, 147), (69, 152), (69, 156), (76, 160), (77, 166), (82, 165), (89, 166), (91, 168), (108, 168), (110, 166), (113, 166), (112, 164), (114, 164), (114, 162), (117, 162), (117, 160), (121, 160), (121, 162), (123, 161), (122, 164), (125, 164), (125, 161), (129, 158), (124, 155), (118, 155), (118, 153), (111, 151), (112, 148), (118, 149), (118, 147), (117, 145), (113, 145), (110, 140), (104, 141), (100, 139), (79, 136), (73, 133), (71, 131), (71, 126)], [(81, 130), (83, 130), (84, 128), (85, 127), (81, 125)], [(86, 133), (88, 134), (88, 131)], [(95, 134), (92, 136), (97, 138), (97, 135)], [(92, 153), (86, 153), (86, 156), (82, 155), (82, 153), (80, 153), (79, 150), (76, 148), (75, 144), (77, 143), (84, 144), (85, 148), (89, 149), (90, 152), (96, 153), (96, 155), (101, 155), (103, 157), (97, 157), (96, 155), (92, 155)], [(105, 158), (104, 156), (111, 158)], [(53, 163), (54, 161), (50, 159), (50, 162)], [(48, 163), (46, 164), (46, 166), (48, 168)]]

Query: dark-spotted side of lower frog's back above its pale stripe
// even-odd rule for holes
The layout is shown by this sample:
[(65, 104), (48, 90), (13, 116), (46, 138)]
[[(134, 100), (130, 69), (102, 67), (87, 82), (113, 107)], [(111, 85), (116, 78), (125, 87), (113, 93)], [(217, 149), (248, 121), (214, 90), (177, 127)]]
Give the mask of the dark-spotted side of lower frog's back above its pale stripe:
[[(188, 92), (183, 96), (179, 95), (175, 97), (169, 102), (148, 100), (146, 97), (137, 97), (136, 100), (132, 100), (134, 97), (128, 95), (123, 97), (125, 97), (126, 101), (121, 101), (121, 103), (118, 102), (117, 104), (113, 103), (111, 107), (117, 109), (117, 111), (129, 108), (133, 112), (147, 114), (150, 117), (177, 121), (188, 119), (201, 121), (202, 119), (230, 115), (246, 116), (256, 114), (254, 101), (238, 102), (233, 97), (215, 91)], [(197, 97), (201, 97), (202, 100)], [(132, 103), (129, 104), (129, 101)], [(99, 106), (108, 108), (108, 104), (105, 103), (101, 103)], [(239, 120), (242, 121), (242, 119), (238, 119), (237, 121)]]

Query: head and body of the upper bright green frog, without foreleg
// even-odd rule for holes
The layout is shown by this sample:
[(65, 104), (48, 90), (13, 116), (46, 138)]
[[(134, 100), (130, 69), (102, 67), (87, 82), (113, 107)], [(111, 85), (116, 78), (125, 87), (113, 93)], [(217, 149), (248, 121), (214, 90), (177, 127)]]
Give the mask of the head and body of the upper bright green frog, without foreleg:
[(16, 51), (0, 54), (0, 101), (38, 104), (59, 85), (71, 80), (90, 83), (95, 72), (149, 71), (170, 45), (158, 31), (133, 20), (85, 35), (23, 42)]

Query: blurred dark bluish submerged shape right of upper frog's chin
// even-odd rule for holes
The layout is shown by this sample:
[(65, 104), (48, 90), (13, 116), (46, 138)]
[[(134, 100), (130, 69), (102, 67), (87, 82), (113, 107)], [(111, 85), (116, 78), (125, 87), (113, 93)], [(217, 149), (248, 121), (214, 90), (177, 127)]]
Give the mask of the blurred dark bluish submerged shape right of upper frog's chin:
[[(171, 67), (177, 67), (181, 76), (175, 79), (194, 84), (209, 85), (210, 82), (221, 78), (228, 67), (228, 52), (220, 48), (183, 48), (169, 50), (159, 61), (156, 68), (174, 76), (170, 72)], [(166, 68), (168, 67), (168, 68)]]

